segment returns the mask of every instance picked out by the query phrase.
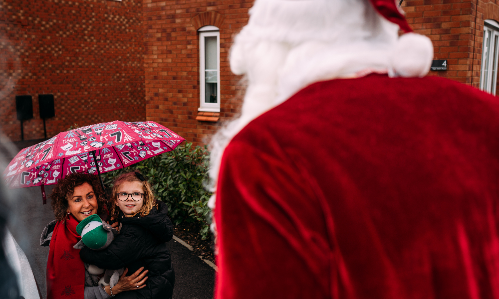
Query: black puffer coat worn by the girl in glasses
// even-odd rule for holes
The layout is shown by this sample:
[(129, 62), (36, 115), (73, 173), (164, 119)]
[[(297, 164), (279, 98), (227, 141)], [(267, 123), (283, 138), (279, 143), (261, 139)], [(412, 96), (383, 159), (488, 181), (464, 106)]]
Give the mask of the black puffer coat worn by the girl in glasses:
[(170, 299), (175, 284), (175, 272), (166, 242), (173, 237), (173, 225), (168, 218), (168, 207), (158, 201), (149, 215), (118, 218), (121, 222), (119, 235), (104, 250), (95, 251), (88, 247), (80, 250), (85, 263), (102, 269), (128, 268), (127, 275), (140, 267), (149, 270), (145, 288), (127, 291), (116, 298)]

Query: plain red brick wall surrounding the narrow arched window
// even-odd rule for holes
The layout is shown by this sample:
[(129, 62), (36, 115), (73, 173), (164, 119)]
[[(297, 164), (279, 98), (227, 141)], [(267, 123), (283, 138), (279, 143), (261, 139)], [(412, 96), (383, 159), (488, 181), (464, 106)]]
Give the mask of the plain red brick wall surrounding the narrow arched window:
[[(144, 0), (147, 119), (201, 145), (241, 108), (241, 77), (232, 74), (229, 49), (248, 22), (252, 0)], [(206, 12), (221, 17), (199, 17)], [(193, 19), (194, 18), (194, 19)], [(209, 23), (209, 20), (217, 22)], [(223, 22), (220, 21), (223, 19)], [(205, 23), (200, 23), (204, 20)], [(220, 28), (221, 113), (219, 122), (197, 121), (199, 108), (199, 25)]]

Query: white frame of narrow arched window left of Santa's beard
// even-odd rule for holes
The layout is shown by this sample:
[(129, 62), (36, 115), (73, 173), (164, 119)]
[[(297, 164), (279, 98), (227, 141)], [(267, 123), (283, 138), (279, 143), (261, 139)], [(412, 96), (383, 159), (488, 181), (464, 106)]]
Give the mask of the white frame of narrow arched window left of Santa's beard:
[[(199, 108), (198, 111), (220, 112), (220, 30), (216, 26), (204, 26), (199, 30)], [(217, 36), (217, 103), (205, 102), (205, 37)]]

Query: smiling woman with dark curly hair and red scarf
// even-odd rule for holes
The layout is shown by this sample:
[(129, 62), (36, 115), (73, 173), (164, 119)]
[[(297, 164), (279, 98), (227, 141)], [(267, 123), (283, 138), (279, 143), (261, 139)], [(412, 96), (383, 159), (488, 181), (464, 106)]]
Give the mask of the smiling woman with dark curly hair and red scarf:
[[(89, 265), (80, 259), (80, 250), (73, 248), (81, 240), (76, 233), (76, 226), (81, 220), (93, 214), (103, 219), (109, 217), (99, 178), (83, 172), (69, 174), (55, 185), (50, 197), (56, 220), (47, 225), (40, 240), (41, 246), (50, 246), (47, 261), (47, 299), (109, 298), (105, 289), (97, 286), (98, 278), (89, 273)], [(136, 286), (144, 288), (147, 279), (144, 276), (147, 271), (140, 274), (142, 270), (138, 269), (129, 277), (125, 277), (125, 271), (113, 288), (114, 295), (136, 290)]]

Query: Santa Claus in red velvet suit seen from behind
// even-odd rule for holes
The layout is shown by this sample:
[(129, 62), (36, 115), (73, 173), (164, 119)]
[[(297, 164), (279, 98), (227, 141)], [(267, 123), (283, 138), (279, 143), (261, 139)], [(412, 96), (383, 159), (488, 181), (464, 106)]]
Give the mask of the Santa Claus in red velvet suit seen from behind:
[(392, 0), (256, 0), (213, 142), (219, 299), (499, 298), (499, 101)]

